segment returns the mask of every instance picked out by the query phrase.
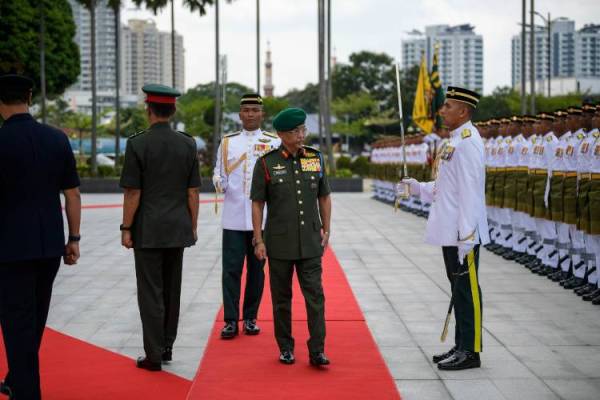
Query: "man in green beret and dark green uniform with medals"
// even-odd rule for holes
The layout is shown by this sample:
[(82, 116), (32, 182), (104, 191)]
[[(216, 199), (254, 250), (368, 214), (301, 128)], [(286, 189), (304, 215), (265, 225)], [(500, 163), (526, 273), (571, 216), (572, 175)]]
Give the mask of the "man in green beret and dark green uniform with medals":
[[(262, 156), (252, 178), (252, 225), (258, 259), (269, 257), (275, 338), (279, 360), (293, 364), (292, 276), (294, 267), (306, 302), (310, 364), (327, 365), (325, 297), (321, 257), (327, 247), (331, 220), (331, 189), (321, 153), (303, 146), (306, 113), (299, 108), (281, 111), (273, 127), (282, 145)], [(267, 221), (262, 236), (263, 210)]]

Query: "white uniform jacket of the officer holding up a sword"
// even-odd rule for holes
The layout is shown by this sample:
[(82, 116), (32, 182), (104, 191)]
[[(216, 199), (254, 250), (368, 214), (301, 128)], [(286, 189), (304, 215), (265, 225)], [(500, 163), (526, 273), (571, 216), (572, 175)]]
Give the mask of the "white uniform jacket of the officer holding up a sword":
[(489, 243), (484, 146), (471, 121), (450, 133), (440, 157), (437, 179), (420, 184), (422, 199), (432, 203), (425, 242), (437, 246)]

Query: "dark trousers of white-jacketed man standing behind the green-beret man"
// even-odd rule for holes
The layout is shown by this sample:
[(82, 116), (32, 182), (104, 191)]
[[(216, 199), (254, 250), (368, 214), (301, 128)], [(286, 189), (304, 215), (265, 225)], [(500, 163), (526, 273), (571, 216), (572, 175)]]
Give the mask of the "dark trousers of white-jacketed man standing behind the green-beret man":
[(225, 321), (240, 319), (242, 270), (246, 260), (243, 317), (256, 319), (265, 286), (265, 262), (254, 255), (252, 231), (223, 229), (223, 310)]

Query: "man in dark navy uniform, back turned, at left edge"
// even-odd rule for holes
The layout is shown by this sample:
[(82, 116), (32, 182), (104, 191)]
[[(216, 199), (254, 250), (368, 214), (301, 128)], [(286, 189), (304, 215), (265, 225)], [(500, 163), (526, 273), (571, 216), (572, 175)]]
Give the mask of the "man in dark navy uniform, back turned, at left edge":
[(24, 400), (41, 398), (38, 353), (52, 284), (61, 257), (67, 265), (79, 259), (81, 220), (69, 139), (31, 116), (32, 89), (29, 78), (0, 76), (0, 326), (8, 361), (0, 393)]

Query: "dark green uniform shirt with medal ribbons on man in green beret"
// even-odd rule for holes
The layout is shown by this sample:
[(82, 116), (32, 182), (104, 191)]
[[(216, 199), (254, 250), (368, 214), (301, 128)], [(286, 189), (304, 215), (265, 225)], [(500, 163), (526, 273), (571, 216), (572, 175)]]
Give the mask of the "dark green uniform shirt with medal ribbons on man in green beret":
[(300, 260), (323, 255), (318, 198), (331, 193), (321, 153), (304, 147), (265, 154), (252, 177), (253, 201), (266, 202), (264, 240), (269, 257)]

